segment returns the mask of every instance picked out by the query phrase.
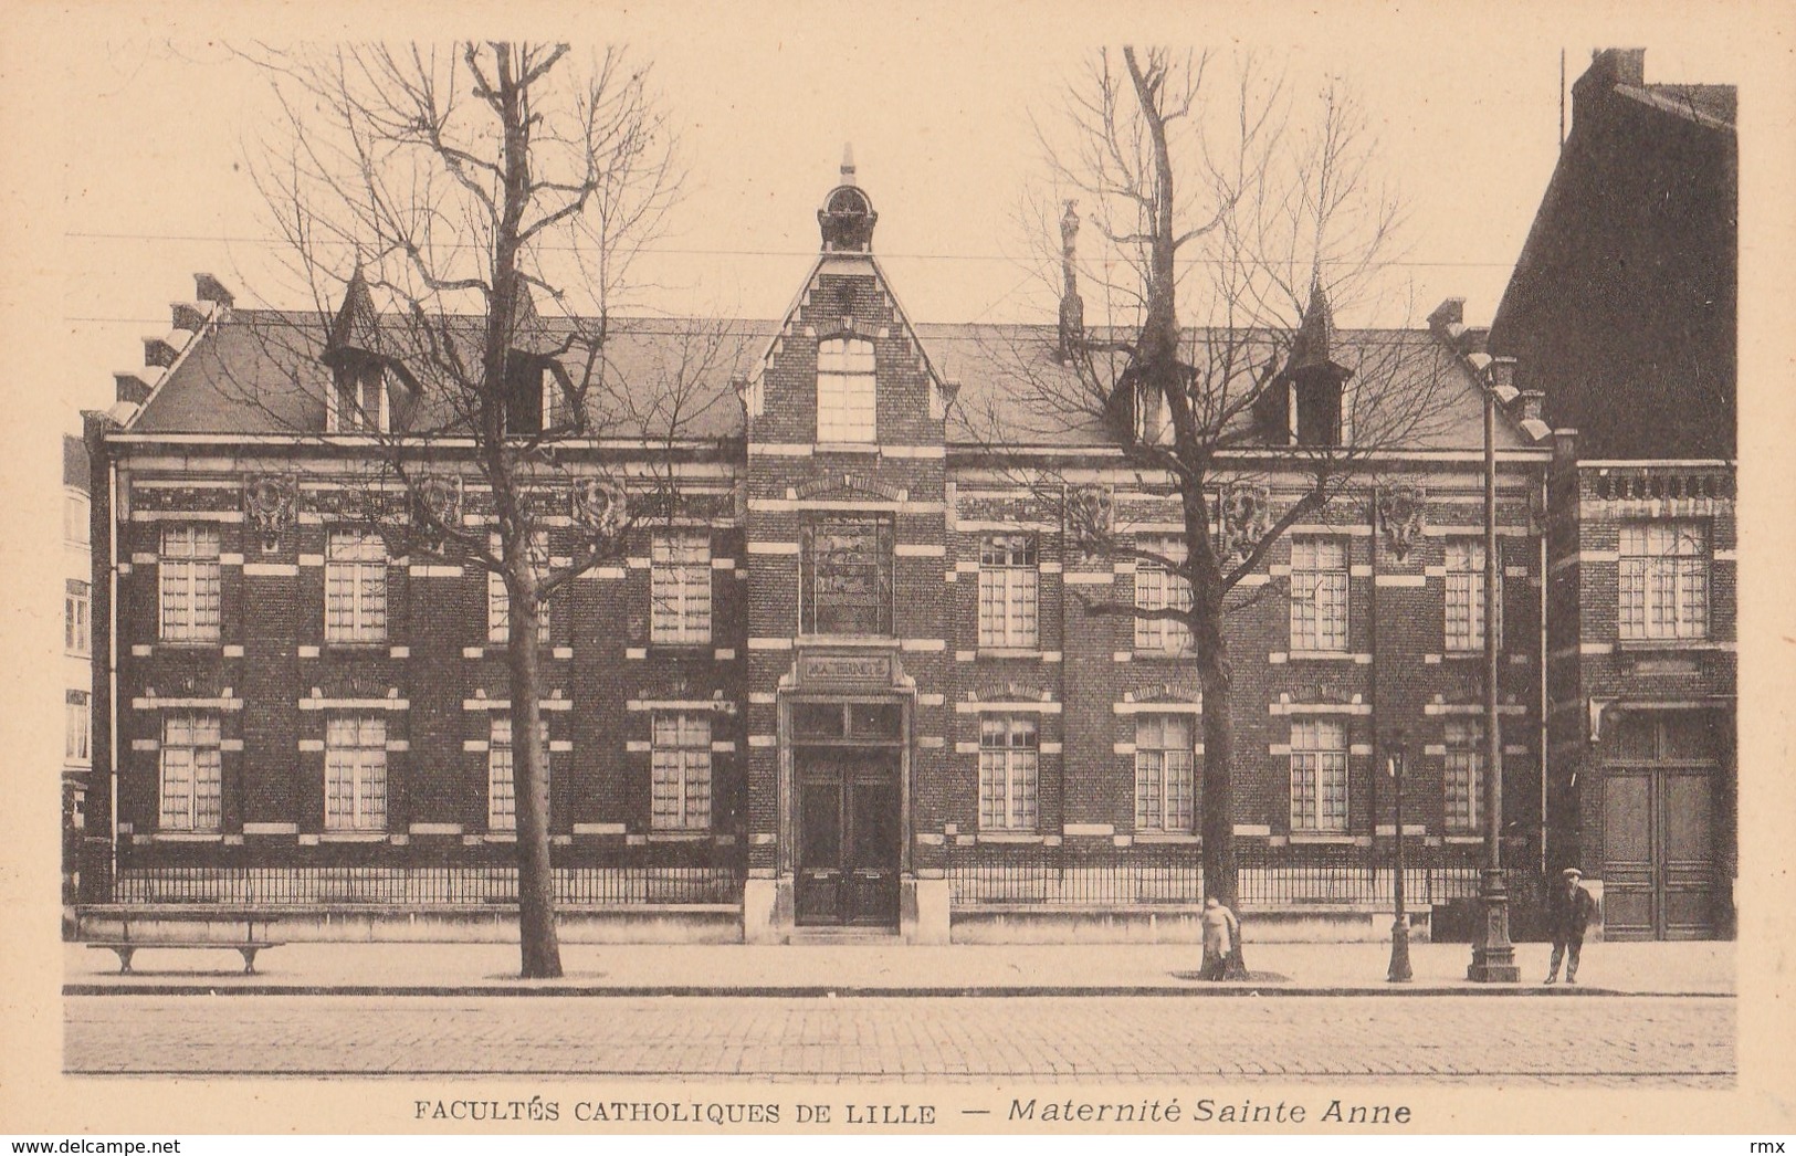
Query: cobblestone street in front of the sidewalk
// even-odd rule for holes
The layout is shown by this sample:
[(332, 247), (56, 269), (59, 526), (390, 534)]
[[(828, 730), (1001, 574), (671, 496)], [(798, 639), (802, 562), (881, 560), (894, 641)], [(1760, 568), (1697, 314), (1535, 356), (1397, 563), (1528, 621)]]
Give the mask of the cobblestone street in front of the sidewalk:
[[(1724, 1088), (1731, 998), (75, 996), (77, 1073)], [(1575, 1041), (1575, 1043), (1568, 1043)]]

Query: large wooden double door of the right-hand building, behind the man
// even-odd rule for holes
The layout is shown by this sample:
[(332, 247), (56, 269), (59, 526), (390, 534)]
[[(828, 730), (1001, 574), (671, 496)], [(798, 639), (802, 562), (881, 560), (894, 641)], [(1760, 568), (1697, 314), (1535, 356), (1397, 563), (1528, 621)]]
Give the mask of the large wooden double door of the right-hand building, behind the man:
[(1681, 716), (1625, 718), (1602, 783), (1602, 906), (1609, 939), (1712, 939), (1719, 903), (1719, 768)]

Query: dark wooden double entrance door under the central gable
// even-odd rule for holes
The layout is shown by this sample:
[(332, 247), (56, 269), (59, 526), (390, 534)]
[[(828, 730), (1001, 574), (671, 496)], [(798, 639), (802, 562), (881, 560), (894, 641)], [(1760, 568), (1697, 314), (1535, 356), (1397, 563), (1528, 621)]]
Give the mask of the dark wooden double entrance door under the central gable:
[(797, 781), (797, 923), (898, 924), (898, 759), (817, 752)]

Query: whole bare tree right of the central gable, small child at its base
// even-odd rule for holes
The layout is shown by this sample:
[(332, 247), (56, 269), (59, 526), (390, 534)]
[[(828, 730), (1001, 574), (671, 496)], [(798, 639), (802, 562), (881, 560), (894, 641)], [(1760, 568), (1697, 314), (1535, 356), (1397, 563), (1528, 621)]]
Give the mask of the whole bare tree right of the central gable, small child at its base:
[[(1105, 50), (1036, 133), (1049, 180), (1027, 217), (1043, 241), (1060, 217), (1043, 262), (1058, 334), (1008, 330), (1024, 404), (964, 416), (993, 449), (1067, 434), (1117, 447), (1146, 492), (1178, 497), (1182, 531), (1166, 547), (1112, 533), (1092, 517), (1103, 503), (1067, 517), (1092, 547), (1189, 587), (1189, 605), (1081, 603), (1189, 632), (1203, 691), (1203, 887), (1236, 906), (1227, 621), (1277, 589), (1266, 560), (1293, 524), (1365, 486), (1379, 451), (1440, 425), (1449, 359), (1404, 332), (1334, 334), (1331, 303), (1367, 305), (1401, 217), (1338, 83), (1311, 109), (1255, 59)], [(1081, 258), (1085, 221), (1099, 244)], [(1018, 474), (1043, 495), (1067, 492), (1042, 460)], [(1239, 937), (1228, 973), (1245, 973)]]

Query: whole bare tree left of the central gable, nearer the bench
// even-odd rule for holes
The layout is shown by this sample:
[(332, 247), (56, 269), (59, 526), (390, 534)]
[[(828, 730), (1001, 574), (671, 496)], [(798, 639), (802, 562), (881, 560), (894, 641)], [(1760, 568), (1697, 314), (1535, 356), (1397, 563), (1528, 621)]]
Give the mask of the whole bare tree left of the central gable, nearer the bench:
[[(663, 325), (663, 339), (632, 345), (656, 357), (614, 357), (645, 325), (616, 316), (632, 257), (679, 196), (670, 126), (620, 50), (251, 59), (284, 113), (251, 169), (286, 241), (287, 289), (314, 307), (259, 314), (264, 355), (233, 391), (311, 436), (323, 402), (325, 429), (361, 447), (332, 467), (350, 479), (339, 513), (392, 555), (447, 555), (503, 582), (521, 969), (559, 976), (539, 623), (639, 521), (629, 490), (661, 470), (672, 494), (681, 456), (702, 452), (684, 431), (720, 404), (704, 386), (733, 361), (722, 325)], [(607, 436), (661, 452), (605, 474)], [(463, 519), (463, 479), (490, 490), (490, 528)], [(575, 546), (551, 553), (550, 526), (568, 521)]]

